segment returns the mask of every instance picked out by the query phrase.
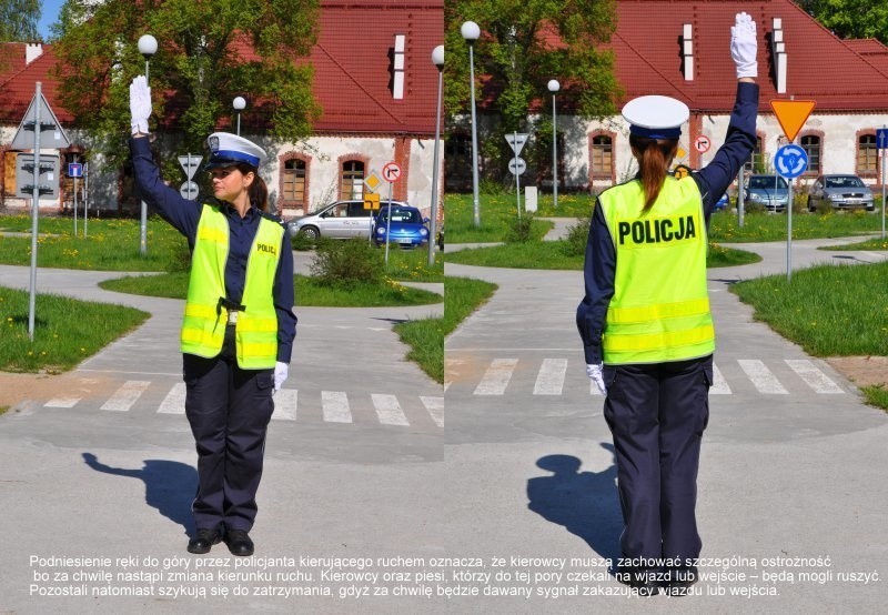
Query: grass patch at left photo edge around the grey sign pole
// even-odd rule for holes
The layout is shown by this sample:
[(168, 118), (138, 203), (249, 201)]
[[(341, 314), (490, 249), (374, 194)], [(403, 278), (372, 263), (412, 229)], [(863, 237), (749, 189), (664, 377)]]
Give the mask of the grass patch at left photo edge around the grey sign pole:
[(28, 337), (29, 293), (0, 288), (0, 371), (59, 373), (148, 319), (141, 310), (39, 294), (34, 339)]

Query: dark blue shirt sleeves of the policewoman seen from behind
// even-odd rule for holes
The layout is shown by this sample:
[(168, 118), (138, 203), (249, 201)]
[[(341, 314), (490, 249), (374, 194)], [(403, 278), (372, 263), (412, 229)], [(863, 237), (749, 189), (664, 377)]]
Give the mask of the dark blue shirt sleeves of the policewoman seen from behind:
[[(693, 173), (703, 195), (703, 213), (706, 225), (713, 206), (737, 177), (740, 167), (749, 159), (756, 145), (756, 115), (758, 114), (758, 84), (737, 83), (737, 98), (730, 114), (725, 143), (718, 149), (713, 161), (697, 173)], [(614, 295), (614, 278), (617, 255), (610, 231), (595, 204), (586, 244), (584, 279), (586, 296), (576, 310), (576, 325), (583, 339), (586, 363), (602, 362), (602, 332), (610, 298)]]

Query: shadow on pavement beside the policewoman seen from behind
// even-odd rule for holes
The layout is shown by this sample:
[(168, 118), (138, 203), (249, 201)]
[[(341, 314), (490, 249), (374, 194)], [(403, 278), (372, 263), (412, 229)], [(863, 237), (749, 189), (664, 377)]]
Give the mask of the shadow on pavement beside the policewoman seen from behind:
[[(601, 446), (614, 454), (612, 444)], [(616, 462), (612, 457), (610, 466), (598, 473), (579, 472), (582, 464), (572, 455), (539, 457), (536, 465), (554, 474), (527, 481), (527, 507), (552, 523), (564, 525), (602, 558), (616, 563), (623, 531)]]

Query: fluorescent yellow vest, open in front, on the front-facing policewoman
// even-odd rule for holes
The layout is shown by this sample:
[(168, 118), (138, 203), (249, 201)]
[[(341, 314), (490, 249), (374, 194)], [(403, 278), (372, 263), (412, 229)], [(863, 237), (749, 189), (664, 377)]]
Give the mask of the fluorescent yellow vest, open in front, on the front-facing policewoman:
[[(278, 314), (272, 288), (281, 258), (283, 226), (260, 219), (246, 261), (241, 303), (245, 310), (234, 326), (238, 365), (245, 370), (274, 367), (278, 361)], [(222, 351), (228, 313), (219, 309), (225, 296), (225, 262), (229, 255), (229, 223), (212, 205), (203, 205), (191, 256), (188, 301), (182, 319), (181, 350), (213, 357)]]

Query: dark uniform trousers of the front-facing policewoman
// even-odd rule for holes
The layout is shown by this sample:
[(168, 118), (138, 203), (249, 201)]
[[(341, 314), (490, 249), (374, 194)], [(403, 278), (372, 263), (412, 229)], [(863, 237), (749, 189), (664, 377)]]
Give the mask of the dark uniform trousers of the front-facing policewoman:
[(198, 448), (194, 524), (249, 532), (274, 411), (274, 370), (238, 367), (231, 335), (219, 356), (184, 354), (183, 364), (185, 415)]

